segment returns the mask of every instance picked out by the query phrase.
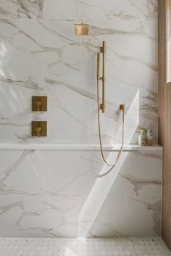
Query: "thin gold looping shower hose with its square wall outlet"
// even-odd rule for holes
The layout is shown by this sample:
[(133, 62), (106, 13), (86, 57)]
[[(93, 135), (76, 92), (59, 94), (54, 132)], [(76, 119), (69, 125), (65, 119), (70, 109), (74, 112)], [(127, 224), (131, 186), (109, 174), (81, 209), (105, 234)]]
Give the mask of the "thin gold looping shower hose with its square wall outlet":
[[(120, 160), (122, 150), (123, 150), (123, 144), (124, 144), (124, 122), (125, 122), (125, 105), (120, 105), (120, 110), (122, 110), (122, 144), (120, 147), (120, 150), (117, 154), (117, 158), (114, 163), (107, 162), (106, 158), (104, 157), (104, 151), (101, 141), (101, 123), (100, 123), (100, 104), (99, 104), (99, 79), (97, 79), (97, 104), (98, 104), (98, 126), (99, 126), (99, 142), (100, 142), (100, 150), (101, 150), (101, 157), (103, 158), (104, 162), (109, 165), (110, 167), (114, 167), (118, 160)], [(112, 170), (112, 169), (111, 169)], [(109, 171), (107, 172), (109, 173)]]

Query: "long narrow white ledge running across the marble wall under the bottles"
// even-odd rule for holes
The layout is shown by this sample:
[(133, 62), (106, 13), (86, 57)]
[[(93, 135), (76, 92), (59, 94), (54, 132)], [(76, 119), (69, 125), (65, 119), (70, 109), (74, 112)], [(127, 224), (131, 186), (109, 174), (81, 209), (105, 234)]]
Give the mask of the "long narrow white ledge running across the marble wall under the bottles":
[[(0, 150), (3, 149), (38, 149), (38, 150), (100, 150), (99, 144), (0, 144)], [(118, 151), (120, 145), (104, 144), (105, 151)], [(125, 144), (124, 151), (162, 151), (162, 146), (138, 146), (136, 144)]]

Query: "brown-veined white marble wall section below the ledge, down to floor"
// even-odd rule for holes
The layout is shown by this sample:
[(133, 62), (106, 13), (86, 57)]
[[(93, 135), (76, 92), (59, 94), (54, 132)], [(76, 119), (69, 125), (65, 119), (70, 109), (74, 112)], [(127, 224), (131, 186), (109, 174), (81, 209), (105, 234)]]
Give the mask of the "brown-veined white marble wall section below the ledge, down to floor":
[(161, 154), (0, 150), (0, 236), (159, 236)]

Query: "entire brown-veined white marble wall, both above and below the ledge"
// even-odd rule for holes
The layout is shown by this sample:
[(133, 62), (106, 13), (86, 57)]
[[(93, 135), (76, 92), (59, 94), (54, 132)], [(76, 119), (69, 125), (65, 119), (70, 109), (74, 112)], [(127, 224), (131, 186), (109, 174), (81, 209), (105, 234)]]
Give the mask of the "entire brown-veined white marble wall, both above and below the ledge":
[[(75, 36), (75, 22), (90, 35)], [(141, 128), (157, 142), (157, 0), (1, 0), (0, 143), (98, 143), (104, 40), (103, 142), (120, 141), (119, 104), (125, 143)], [(48, 112), (31, 112), (32, 95), (48, 95)], [(30, 136), (32, 120), (48, 121), (46, 138)], [(161, 152), (124, 152), (99, 178), (99, 152), (0, 150), (0, 236), (158, 236), (161, 162)]]

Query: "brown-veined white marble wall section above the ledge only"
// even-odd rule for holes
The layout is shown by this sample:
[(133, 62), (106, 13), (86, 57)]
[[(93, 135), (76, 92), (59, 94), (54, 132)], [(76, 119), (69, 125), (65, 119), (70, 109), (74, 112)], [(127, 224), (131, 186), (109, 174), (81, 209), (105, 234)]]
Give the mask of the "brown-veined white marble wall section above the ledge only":
[[(125, 141), (141, 128), (157, 141), (157, 0), (1, 0), (0, 141), (96, 143), (96, 51), (107, 41), (107, 112), (102, 133)], [(75, 22), (91, 25), (75, 36)], [(30, 111), (32, 95), (49, 111)], [(30, 137), (31, 120), (48, 120), (46, 139)]]

